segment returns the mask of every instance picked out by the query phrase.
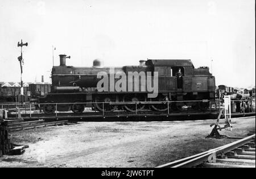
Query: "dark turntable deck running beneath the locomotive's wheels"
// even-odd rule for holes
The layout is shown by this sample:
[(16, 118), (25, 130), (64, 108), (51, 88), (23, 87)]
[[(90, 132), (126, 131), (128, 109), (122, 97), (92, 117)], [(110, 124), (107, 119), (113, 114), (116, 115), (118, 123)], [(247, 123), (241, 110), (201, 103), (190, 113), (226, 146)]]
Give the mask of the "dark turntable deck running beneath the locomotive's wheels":
[[(75, 119), (75, 120), (108, 120), (108, 119), (115, 119), (115, 120), (122, 120), (122, 119), (133, 119), (137, 118), (138, 120), (145, 120), (145, 119), (166, 119), (172, 120), (182, 118), (181, 120), (186, 120), (192, 117), (203, 118), (203, 119), (216, 119), (218, 113), (217, 112), (210, 112), (210, 111), (186, 111), (186, 112), (170, 112), (162, 113), (158, 111), (138, 111), (137, 113), (128, 112), (128, 111), (114, 111), (112, 113), (101, 113), (96, 111), (86, 111), (82, 114), (75, 114), (75, 113), (55, 113), (55, 114), (43, 114), (43, 113), (26, 113), (21, 114), (20, 117), (24, 120), (59, 120), (59, 119)], [(240, 116), (251, 116), (255, 115), (255, 113), (246, 113), (246, 114), (232, 114), (232, 118), (240, 117)], [(14, 120), (18, 118), (18, 114), (8, 114), (6, 119)]]

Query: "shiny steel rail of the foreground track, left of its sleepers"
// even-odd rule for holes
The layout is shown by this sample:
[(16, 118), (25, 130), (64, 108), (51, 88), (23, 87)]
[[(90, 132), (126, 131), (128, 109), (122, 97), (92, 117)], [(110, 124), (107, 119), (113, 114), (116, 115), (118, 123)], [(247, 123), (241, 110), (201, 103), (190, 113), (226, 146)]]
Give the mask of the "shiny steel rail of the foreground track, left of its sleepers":
[(184, 159), (176, 160), (171, 163), (157, 166), (156, 168), (189, 168), (189, 167), (193, 167), (193, 166), (202, 164), (205, 161), (208, 161), (209, 157), (211, 157), (211, 156), (223, 155), (223, 154), (228, 153), (238, 147), (241, 147), (242, 145), (245, 145), (253, 140), (255, 140), (255, 134), (248, 136), (246, 138), (243, 138), (241, 140), (234, 141), (233, 143), (226, 144), (221, 147), (214, 148), (214, 149), (210, 149), (209, 151), (202, 152), (197, 155), (189, 156)]

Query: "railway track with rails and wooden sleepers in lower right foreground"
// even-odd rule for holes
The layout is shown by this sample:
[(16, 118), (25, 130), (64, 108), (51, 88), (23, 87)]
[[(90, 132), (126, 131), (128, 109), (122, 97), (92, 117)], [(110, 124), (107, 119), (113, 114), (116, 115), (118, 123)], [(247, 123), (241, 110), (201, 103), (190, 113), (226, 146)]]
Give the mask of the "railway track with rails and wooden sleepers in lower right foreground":
[(157, 168), (255, 168), (255, 131), (233, 143), (210, 149)]

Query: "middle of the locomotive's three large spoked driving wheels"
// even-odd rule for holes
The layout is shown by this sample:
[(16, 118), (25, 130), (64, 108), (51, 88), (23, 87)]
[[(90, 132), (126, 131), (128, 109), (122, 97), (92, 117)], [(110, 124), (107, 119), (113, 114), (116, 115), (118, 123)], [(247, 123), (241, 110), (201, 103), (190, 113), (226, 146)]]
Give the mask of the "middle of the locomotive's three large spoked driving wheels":
[[(144, 109), (145, 105), (139, 103), (139, 101), (147, 101), (147, 98), (143, 94), (126, 94), (123, 96), (123, 102), (133, 102), (131, 104), (125, 105), (125, 110), (131, 111), (131, 112), (136, 112), (136, 111), (141, 111)], [(137, 105), (136, 105), (137, 102)], [(137, 110), (136, 110), (137, 107)]]

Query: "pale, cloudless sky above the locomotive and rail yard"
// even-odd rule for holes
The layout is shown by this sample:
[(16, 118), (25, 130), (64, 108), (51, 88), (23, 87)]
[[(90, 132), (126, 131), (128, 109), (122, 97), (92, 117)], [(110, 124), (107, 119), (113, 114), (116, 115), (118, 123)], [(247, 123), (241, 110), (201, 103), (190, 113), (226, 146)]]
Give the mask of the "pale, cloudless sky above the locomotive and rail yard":
[[(67, 65), (138, 65), (191, 59), (216, 85), (255, 85), (254, 0), (0, 0), (0, 81), (49, 82), (59, 55)], [(56, 50), (52, 53), (52, 47)]]

